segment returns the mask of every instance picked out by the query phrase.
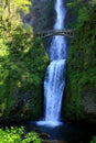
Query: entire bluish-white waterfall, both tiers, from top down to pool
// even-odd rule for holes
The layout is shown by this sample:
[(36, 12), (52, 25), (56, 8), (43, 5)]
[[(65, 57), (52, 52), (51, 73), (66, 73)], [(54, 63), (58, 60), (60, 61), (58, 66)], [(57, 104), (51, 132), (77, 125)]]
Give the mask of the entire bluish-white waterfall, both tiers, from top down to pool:
[[(65, 8), (63, 2), (64, 0), (55, 2), (54, 30), (64, 29)], [(53, 36), (49, 56), (51, 63), (44, 80), (45, 118), (42, 124), (55, 127), (61, 123), (61, 106), (65, 86), (66, 42), (64, 36)]]

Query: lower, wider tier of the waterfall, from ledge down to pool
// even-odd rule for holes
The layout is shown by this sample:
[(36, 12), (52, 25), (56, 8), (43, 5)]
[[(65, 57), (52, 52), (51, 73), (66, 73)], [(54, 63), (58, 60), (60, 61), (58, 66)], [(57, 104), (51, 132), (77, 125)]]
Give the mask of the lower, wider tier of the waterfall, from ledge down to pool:
[(44, 81), (45, 122), (58, 124), (63, 97), (65, 59), (53, 61), (47, 67)]

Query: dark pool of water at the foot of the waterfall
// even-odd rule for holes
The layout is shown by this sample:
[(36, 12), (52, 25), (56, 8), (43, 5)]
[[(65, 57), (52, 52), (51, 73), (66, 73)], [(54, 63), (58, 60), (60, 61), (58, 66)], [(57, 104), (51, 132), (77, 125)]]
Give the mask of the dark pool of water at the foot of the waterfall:
[(26, 131), (39, 130), (39, 132), (47, 133), (51, 140), (66, 141), (68, 143), (88, 143), (92, 134), (96, 133), (96, 129), (93, 127), (65, 122), (57, 127), (49, 127), (31, 121), (24, 127)]

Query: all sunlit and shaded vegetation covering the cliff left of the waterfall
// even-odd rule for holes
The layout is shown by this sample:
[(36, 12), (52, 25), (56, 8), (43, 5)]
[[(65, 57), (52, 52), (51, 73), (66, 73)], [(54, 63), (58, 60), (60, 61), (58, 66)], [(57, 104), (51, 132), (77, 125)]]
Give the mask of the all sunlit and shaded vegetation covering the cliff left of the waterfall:
[(0, 121), (35, 119), (42, 113), (42, 80), (47, 55), (19, 11), (28, 0), (0, 1)]

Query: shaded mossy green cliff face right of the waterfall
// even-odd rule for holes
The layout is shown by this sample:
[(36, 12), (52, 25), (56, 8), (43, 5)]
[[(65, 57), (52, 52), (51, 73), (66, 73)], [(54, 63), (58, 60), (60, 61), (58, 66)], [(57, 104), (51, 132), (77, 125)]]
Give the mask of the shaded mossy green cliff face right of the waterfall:
[(96, 123), (96, 7), (81, 9), (71, 41), (64, 118)]

